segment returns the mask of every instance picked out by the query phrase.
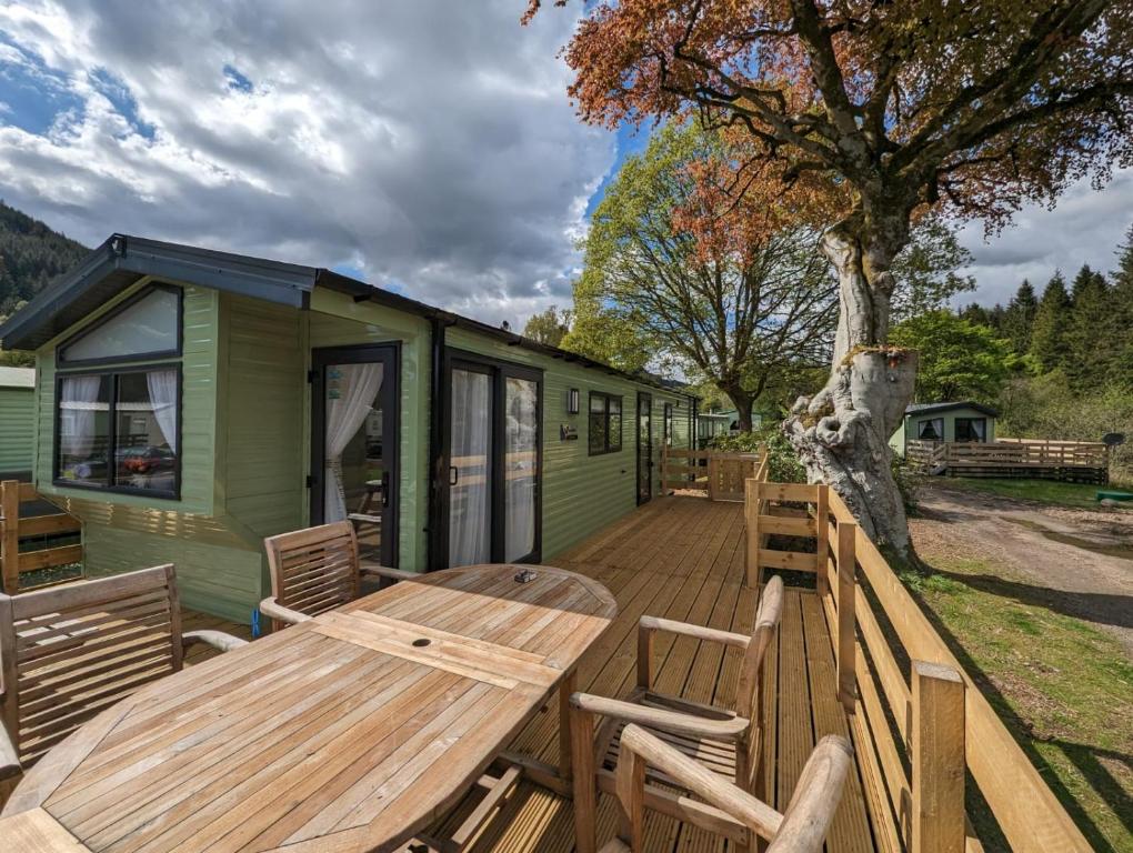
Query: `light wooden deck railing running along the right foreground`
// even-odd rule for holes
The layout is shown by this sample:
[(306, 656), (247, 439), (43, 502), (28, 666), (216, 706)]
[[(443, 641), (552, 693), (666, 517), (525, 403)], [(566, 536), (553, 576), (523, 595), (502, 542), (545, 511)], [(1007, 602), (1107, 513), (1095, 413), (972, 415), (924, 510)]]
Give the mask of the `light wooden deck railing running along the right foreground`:
[[(785, 523), (777, 502), (806, 502), (806, 519)], [(836, 492), (752, 479), (744, 512), (752, 582), (765, 569), (816, 575), (878, 848), (982, 851), (964, 810), (966, 770), (1012, 850), (1090, 850)], [(816, 553), (766, 547), (803, 530)]]

